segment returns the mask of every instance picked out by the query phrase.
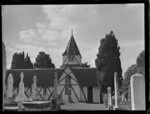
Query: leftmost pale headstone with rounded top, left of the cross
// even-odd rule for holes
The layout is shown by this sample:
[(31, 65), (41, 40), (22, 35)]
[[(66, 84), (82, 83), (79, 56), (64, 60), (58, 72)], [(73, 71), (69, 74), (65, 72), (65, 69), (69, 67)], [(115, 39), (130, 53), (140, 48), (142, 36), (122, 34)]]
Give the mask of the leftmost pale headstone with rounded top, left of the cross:
[(13, 76), (10, 73), (7, 79), (7, 98), (13, 96)]

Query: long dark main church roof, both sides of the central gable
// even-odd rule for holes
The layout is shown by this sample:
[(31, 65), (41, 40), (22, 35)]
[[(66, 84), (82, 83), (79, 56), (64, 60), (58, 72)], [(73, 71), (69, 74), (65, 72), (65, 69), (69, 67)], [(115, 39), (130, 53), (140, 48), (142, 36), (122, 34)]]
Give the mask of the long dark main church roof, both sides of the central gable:
[[(96, 77), (96, 68), (82, 68), (82, 67), (69, 67), (76, 79), (78, 80), (79, 85), (81, 86), (97, 86), (97, 77)], [(13, 75), (13, 86), (18, 87), (20, 82), (20, 74), (24, 74), (24, 85), (25, 87), (31, 87), (33, 83), (33, 76), (37, 77), (37, 86), (38, 87), (52, 87), (54, 86), (54, 74), (57, 72), (58, 80), (62, 75), (64, 69), (48, 68), (48, 69), (11, 69), (6, 71), (6, 80), (10, 73)]]

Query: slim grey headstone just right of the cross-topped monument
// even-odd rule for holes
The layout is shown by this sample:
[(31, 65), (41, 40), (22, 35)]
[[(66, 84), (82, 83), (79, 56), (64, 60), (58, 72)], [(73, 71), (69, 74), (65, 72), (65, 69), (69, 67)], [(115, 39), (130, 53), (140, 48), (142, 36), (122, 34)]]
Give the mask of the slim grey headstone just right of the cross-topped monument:
[(33, 76), (33, 84), (32, 84), (32, 92), (31, 92), (31, 98), (32, 99), (37, 99), (37, 86), (36, 86), (36, 83), (37, 83), (37, 77), (36, 76)]

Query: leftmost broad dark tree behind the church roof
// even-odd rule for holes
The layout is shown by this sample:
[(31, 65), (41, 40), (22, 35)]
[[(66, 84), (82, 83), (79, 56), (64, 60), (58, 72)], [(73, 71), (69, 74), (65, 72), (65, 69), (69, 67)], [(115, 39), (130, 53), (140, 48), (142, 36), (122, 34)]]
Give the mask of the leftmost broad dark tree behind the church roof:
[(24, 52), (14, 53), (11, 62), (11, 69), (24, 69)]

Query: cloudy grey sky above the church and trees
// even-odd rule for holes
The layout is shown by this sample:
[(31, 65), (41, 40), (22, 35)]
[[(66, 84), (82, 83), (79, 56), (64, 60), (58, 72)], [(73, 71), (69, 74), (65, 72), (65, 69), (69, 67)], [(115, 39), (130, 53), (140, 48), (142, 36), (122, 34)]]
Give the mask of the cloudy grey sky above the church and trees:
[(34, 63), (39, 51), (50, 54), (58, 68), (73, 28), (82, 62), (95, 67), (100, 39), (114, 31), (121, 47), (123, 72), (144, 50), (144, 5), (6, 5), (2, 37), (7, 68), (14, 52), (25, 51)]

